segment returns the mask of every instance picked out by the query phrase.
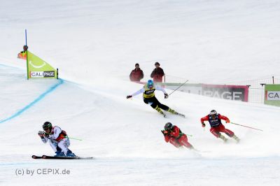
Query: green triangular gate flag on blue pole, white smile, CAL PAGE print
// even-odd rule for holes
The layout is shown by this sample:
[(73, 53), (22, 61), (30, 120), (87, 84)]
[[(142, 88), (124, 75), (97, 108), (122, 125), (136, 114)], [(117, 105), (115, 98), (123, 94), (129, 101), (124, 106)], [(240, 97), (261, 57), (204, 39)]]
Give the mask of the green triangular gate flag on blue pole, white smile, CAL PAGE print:
[(27, 51), (27, 79), (57, 78), (57, 70), (40, 57)]

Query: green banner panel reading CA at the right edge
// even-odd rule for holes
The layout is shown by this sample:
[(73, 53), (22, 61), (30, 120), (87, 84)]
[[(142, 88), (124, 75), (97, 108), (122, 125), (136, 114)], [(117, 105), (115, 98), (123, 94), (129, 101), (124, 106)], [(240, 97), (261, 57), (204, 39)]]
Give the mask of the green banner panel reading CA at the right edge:
[(271, 106), (280, 106), (280, 85), (265, 85), (265, 104)]

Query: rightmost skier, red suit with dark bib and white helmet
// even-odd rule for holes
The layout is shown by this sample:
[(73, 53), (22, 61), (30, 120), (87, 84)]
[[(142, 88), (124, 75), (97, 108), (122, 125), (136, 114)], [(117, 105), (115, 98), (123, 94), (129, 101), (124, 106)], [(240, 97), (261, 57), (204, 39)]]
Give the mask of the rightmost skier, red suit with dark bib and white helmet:
[(234, 138), (237, 142), (239, 142), (239, 138), (235, 136), (235, 133), (229, 129), (225, 129), (225, 126), (223, 126), (221, 120), (225, 120), (226, 123), (230, 122), (228, 117), (218, 114), (216, 110), (211, 110), (209, 115), (202, 117), (200, 121), (202, 123), (202, 127), (205, 127), (204, 121), (208, 121), (211, 126), (211, 133), (217, 138), (223, 139), (224, 142), (228, 141), (228, 138), (225, 138), (221, 132), (227, 134), (230, 136), (230, 138)]

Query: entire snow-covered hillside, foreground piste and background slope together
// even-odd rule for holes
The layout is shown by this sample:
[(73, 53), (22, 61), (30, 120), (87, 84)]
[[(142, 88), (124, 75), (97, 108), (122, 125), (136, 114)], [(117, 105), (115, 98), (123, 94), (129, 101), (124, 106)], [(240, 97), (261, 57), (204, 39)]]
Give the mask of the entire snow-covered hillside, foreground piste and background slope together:
[[(0, 185), (279, 185), (280, 108), (183, 92), (163, 99), (156, 92), (187, 115), (163, 118), (140, 95), (125, 99), (141, 88), (127, 80), (135, 62), (145, 80), (155, 61), (169, 75), (200, 83), (279, 74), (279, 8), (278, 1), (250, 0), (5, 1)], [(29, 50), (58, 67), (61, 80), (25, 80), (25, 63), (15, 59), (25, 28)], [(200, 126), (213, 108), (264, 131), (225, 124), (241, 143), (224, 144)], [(53, 153), (37, 136), (46, 120), (83, 138), (71, 140), (73, 152), (97, 159), (31, 159)], [(165, 143), (166, 122), (192, 134), (190, 143), (202, 152)]]

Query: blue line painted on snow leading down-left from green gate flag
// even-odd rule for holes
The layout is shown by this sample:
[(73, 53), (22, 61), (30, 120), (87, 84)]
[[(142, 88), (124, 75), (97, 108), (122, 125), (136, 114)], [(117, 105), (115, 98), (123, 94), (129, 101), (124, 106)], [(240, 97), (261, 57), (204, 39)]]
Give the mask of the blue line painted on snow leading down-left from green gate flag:
[(18, 117), (19, 115), (21, 115), (23, 112), (25, 112), (25, 110), (28, 110), (29, 108), (31, 108), (32, 106), (34, 106), (35, 103), (37, 103), (38, 101), (41, 101), (46, 95), (48, 95), (50, 92), (54, 91), (59, 85), (62, 85), (62, 83), (64, 83), (64, 80), (59, 79), (59, 82), (55, 85), (53, 85), (52, 87), (50, 87), (47, 91), (45, 91), (43, 94), (41, 94), (40, 96), (38, 96), (36, 99), (34, 99), (34, 101), (32, 101), (31, 103), (29, 103), (27, 106), (25, 106), (24, 108), (18, 110), (17, 113), (14, 113), (13, 115), (11, 115), (10, 117), (0, 120), (0, 123), (3, 122), (7, 122), (8, 120), (12, 120), (15, 117)]

